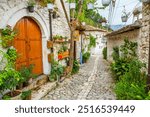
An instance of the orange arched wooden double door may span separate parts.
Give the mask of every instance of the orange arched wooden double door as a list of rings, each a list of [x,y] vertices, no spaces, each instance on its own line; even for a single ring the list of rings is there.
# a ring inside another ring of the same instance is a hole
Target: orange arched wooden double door
[[[33,64],[33,73],[42,74],[42,35],[38,24],[32,18],[24,17],[18,21],[15,30],[18,34],[14,47],[19,54],[16,68]]]

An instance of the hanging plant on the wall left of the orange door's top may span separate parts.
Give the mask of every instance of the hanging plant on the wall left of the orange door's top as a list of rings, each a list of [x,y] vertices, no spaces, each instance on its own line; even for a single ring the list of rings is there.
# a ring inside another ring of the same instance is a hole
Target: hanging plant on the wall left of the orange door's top
[[[0,37],[1,45],[4,48],[10,47],[17,33],[13,31],[10,26],[6,26],[5,29],[1,29],[0,33],[1,33]]]

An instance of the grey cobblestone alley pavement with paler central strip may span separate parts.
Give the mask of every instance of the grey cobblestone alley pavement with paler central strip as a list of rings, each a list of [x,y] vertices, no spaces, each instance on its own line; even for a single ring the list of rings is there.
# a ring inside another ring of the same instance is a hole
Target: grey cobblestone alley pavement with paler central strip
[[[78,74],[49,92],[43,100],[112,100],[116,99],[107,62],[92,56]]]

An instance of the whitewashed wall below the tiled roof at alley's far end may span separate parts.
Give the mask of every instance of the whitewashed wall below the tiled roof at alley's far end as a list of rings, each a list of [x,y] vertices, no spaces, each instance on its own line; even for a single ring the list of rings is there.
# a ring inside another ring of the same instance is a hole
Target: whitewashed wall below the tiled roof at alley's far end
[[[90,43],[88,36],[91,34],[92,36],[94,36],[96,39],[96,47],[95,48],[91,48],[91,54],[95,55],[95,54],[101,54],[102,53],[102,49],[103,47],[105,47],[105,44],[102,43],[102,39],[104,37],[104,35],[106,34],[106,32],[104,31],[85,31],[84,34],[82,34],[82,49],[84,49],[84,51],[88,51],[88,45]],[[80,35],[80,40],[77,42],[77,48],[76,48],[76,57],[78,60],[80,60],[80,56],[81,56],[81,35]]]

